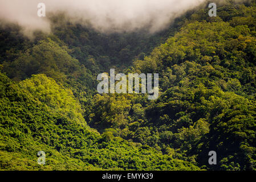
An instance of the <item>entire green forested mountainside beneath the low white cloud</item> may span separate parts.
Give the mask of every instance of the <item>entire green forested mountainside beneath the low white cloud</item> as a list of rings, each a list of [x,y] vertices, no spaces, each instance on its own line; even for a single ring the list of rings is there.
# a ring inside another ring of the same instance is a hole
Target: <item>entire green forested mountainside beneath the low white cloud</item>
[[[51,21],[33,40],[1,26],[0,169],[255,170],[256,1],[197,10],[155,35]],[[109,68],[159,73],[159,98],[97,94]]]

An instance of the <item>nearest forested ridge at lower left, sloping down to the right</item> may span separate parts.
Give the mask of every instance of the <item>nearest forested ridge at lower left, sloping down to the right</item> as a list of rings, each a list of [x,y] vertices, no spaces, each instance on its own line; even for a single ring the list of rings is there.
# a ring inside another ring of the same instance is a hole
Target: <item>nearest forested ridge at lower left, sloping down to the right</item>
[[[15,84],[1,73],[1,169],[199,169],[153,148],[100,135],[71,90],[45,75]],[[46,165],[37,164],[38,151]]]

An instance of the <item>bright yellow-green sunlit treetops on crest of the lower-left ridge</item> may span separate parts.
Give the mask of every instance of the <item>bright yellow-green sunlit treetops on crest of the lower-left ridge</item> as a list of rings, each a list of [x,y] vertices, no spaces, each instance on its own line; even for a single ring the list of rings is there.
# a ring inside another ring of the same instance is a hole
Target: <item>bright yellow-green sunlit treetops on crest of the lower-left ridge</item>
[[[54,113],[64,115],[71,122],[86,125],[80,104],[72,91],[59,86],[52,78],[45,75],[33,75],[31,78],[19,82],[19,85],[50,107]]]

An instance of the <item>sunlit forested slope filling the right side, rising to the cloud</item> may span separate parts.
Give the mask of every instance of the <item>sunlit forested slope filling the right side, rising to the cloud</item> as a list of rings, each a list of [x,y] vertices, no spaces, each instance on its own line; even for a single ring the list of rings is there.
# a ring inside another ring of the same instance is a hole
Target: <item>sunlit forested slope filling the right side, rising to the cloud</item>
[[[158,100],[95,96],[87,121],[200,166],[208,166],[214,150],[219,163],[213,169],[254,169],[255,3],[220,10],[216,18],[204,10],[193,14],[127,70],[160,73]]]

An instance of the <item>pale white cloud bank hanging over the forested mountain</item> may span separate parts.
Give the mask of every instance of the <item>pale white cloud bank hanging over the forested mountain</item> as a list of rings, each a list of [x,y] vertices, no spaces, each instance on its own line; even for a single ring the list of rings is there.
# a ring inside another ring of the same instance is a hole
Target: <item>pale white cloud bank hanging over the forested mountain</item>
[[[25,31],[50,31],[47,14],[64,11],[75,22],[90,20],[100,31],[161,30],[170,20],[205,0],[0,0],[0,19],[18,22]],[[46,5],[46,18],[37,16],[38,3]]]

